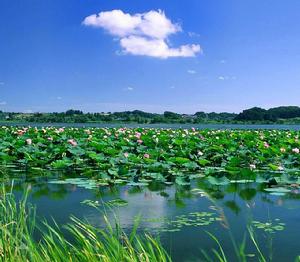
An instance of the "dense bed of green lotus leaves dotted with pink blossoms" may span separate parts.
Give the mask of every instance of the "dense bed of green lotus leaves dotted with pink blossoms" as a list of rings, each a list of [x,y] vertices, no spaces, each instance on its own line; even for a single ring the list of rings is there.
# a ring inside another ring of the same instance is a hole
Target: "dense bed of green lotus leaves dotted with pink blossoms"
[[[273,178],[285,187],[300,184],[299,135],[282,130],[2,127],[0,163],[77,170],[97,180],[88,187],[142,186],[151,180],[185,186],[204,175],[218,186]],[[269,177],[261,177],[261,171]]]

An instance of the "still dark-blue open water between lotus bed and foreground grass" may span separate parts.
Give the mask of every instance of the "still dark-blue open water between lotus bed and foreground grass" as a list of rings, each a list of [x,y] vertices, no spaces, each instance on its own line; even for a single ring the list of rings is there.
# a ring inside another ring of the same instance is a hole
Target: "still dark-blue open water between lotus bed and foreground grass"
[[[229,261],[236,261],[233,243],[239,245],[245,237],[249,261],[258,261],[257,256],[251,257],[255,247],[247,225],[252,225],[268,261],[295,261],[300,254],[297,187],[286,194],[272,195],[264,191],[263,184],[216,186],[200,179],[191,186],[151,183],[144,187],[88,188],[80,183],[59,184],[58,177],[15,175],[14,193],[20,197],[29,188],[29,201],[36,206],[39,218],[54,218],[66,224],[74,215],[104,227],[102,212],[106,212],[110,221],[117,216],[124,230],[130,232],[135,218],[140,216],[140,230],[159,236],[174,261],[203,261],[202,250],[211,254],[212,248],[217,249],[207,232],[217,237]],[[85,200],[98,201],[101,211],[83,204]],[[122,200],[122,205],[108,208],[103,204],[116,200]]]

